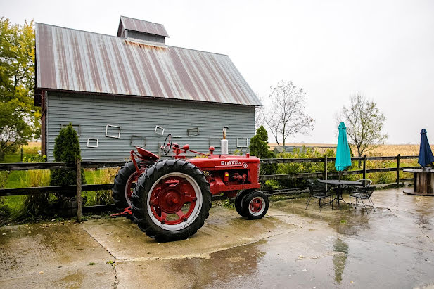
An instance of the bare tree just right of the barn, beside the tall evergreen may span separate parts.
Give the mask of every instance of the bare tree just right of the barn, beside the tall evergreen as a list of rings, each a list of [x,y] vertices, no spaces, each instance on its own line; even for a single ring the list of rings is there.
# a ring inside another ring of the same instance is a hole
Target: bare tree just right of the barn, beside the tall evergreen
[[[295,87],[292,81],[281,81],[271,89],[271,105],[264,121],[277,144],[285,146],[288,136],[307,134],[314,126],[314,119],[305,113],[306,93]]]

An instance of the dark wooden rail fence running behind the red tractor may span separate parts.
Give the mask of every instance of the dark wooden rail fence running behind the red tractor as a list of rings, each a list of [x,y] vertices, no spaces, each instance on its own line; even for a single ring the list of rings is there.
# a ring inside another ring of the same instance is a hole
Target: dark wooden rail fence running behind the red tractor
[[[410,179],[400,179],[399,172],[403,169],[417,168],[417,167],[400,167],[400,160],[403,159],[416,159],[419,158],[417,155],[411,156],[391,156],[391,157],[355,157],[352,158],[353,161],[362,162],[363,169],[354,171],[341,172],[342,175],[350,174],[362,174],[363,179],[366,178],[367,173],[371,172],[396,172],[396,184],[400,184],[400,181],[410,180]],[[329,176],[338,176],[338,172],[328,172],[327,164],[328,162],[334,162],[336,158],[273,158],[273,159],[262,159],[261,164],[285,164],[285,163],[302,163],[302,162],[324,162],[324,172],[315,173],[301,173],[301,174],[272,174],[272,175],[262,175],[261,181],[267,180],[282,180],[282,179],[310,179],[310,178],[324,178],[328,179]],[[366,161],[368,160],[396,160],[397,167],[388,167],[381,169],[366,169]],[[11,164],[0,164],[0,171],[23,171],[30,169],[76,169],[77,171],[77,184],[70,186],[42,186],[42,187],[31,187],[31,188],[4,188],[0,189],[0,197],[8,195],[34,195],[39,193],[65,193],[76,191],[77,195],[81,195],[82,191],[101,191],[110,190],[113,184],[82,184],[81,172],[82,168],[108,168],[108,167],[121,167],[125,162],[82,162],[77,160],[76,162],[29,162],[29,163],[11,163]],[[221,199],[221,197],[213,197],[214,199]],[[82,204],[81,198],[77,198],[78,210],[77,210],[77,221],[82,219]]]

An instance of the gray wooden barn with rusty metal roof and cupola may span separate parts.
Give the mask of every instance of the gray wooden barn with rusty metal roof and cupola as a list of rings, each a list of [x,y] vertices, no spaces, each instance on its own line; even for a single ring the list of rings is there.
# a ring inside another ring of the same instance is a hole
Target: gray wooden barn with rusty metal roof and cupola
[[[257,96],[229,56],[165,44],[158,23],[121,17],[117,36],[36,23],[35,105],[42,151],[70,122],[83,160],[125,160],[134,146],[160,153],[171,133],[193,150],[248,151]]]

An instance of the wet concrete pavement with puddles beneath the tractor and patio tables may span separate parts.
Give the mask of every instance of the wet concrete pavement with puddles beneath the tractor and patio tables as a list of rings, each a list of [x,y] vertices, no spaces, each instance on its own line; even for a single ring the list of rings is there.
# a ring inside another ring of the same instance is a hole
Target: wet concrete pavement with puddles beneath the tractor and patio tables
[[[4,288],[424,288],[434,198],[375,191],[376,212],[281,200],[259,221],[213,208],[189,240],[156,243],[127,219],[0,228]],[[107,264],[115,261],[114,264]],[[94,262],[94,265],[89,265]]]

